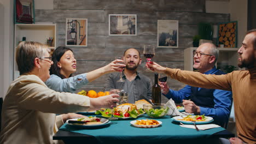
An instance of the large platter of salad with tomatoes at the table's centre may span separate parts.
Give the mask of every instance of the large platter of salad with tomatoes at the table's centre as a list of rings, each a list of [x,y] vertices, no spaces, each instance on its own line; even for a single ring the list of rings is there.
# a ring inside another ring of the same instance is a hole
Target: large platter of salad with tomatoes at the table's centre
[[[142,109],[133,109],[131,111],[123,112],[115,112],[115,109],[105,109],[98,110],[95,112],[96,115],[101,115],[102,117],[109,118],[113,115],[113,117],[117,117],[118,119],[129,119],[129,118],[137,118],[144,114]]]

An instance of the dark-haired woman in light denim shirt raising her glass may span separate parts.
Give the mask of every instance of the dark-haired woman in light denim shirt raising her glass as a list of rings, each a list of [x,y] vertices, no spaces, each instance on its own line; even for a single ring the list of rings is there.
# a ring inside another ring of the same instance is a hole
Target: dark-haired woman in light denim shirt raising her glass
[[[87,85],[89,82],[96,80],[98,77],[118,71],[125,67],[125,64],[120,59],[105,65],[104,67],[90,71],[88,73],[72,76],[77,71],[77,60],[74,53],[68,47],[59,46],[53,52],[54,64],[50,69],[50,78],[45,84],[57,92],[70,92],[74,93],[77,89]]]

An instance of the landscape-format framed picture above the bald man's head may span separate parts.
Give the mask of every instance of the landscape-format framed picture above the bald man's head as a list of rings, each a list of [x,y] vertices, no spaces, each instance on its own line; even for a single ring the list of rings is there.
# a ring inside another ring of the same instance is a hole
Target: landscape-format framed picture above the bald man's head
[[[137,35],[137,15],[109,15],[109,35]]]

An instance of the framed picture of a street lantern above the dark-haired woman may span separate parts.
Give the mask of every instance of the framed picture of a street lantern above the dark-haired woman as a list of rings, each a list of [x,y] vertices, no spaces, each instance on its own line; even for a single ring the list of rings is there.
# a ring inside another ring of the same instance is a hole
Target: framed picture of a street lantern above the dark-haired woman
[[[87,19],[66,19],[66,46],[87,46]]]

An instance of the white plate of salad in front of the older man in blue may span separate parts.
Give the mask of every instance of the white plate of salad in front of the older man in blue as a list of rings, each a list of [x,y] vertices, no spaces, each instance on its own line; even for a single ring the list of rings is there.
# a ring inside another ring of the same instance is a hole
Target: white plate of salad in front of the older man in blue
[[[195,121],[196,124],[206,124],[213,121],[212,117],[207,117],[205,115],[176,116],[171,119],[185,124],[194,124],[192,121]]]

